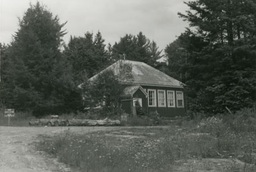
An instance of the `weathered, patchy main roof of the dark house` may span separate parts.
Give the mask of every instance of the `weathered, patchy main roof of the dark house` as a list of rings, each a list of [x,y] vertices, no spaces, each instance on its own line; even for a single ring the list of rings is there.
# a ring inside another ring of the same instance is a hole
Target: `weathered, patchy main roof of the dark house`
[[[144,62],[137,61],[127,61],[122,60],[122,62],[132,65],[132,76],[133,81],[120,81],[122,83],[132,84],[132,85],[152,85],[152,86],[165,86],[165,87],[183,87],[183,83],[179,82],[175,78],[166,75],[165,73],[145,64]],[[104,69],[100,73],[113,69],[114,72],[118,71],[118,64],[120,61],[115,62],[108,68]],[[97,75],[94,75],[90,80],[97,78]]]

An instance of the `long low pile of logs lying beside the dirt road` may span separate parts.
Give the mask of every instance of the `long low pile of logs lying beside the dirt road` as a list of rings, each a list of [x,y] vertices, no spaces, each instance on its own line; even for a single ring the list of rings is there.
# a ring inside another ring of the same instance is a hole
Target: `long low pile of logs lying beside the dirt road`
[[[120,120],[89,120],[89,119],[34,119],[29,121],[30,126],[104,126],[104,125],[120,125]]]

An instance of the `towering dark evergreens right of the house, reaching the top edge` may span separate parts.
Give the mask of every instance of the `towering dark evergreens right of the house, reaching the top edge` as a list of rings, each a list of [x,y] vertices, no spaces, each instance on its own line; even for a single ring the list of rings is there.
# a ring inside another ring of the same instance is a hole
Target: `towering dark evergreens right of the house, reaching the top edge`
[[[252,106],[256,99],[256,2],[197,0],[186,4],[190,10],[179,15],[190,27],[186,31],[189,44],[184,47],[189,54],[190,107],[216,113],[225,106],[234,111]]]

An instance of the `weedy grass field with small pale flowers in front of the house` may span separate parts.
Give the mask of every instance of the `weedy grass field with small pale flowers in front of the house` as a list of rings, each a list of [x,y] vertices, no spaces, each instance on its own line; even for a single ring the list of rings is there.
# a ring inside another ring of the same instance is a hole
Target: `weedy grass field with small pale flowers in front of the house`
[[[167,128],[66,132],[45,136],[38,149],[78,171],[256,171],[255,124],[239,132],[232,124],[212,117]]]

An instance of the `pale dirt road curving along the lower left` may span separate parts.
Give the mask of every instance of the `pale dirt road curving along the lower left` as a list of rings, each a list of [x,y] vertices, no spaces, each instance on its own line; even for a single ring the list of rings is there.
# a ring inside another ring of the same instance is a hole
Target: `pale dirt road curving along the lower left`
[[[35,150],[33,142],[38,134],[54,135],[67,129],[71,132],[88,133],[116,127],[2,127],[0,126],[1,172],[50,172],[61,171],[56,159]],[[63,168],[62,168],[63,169]]]

